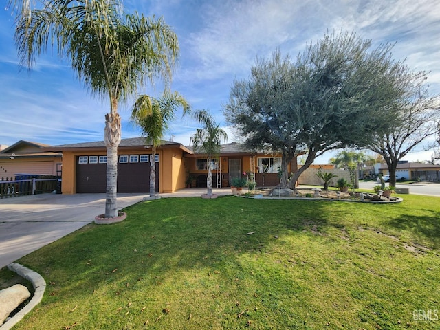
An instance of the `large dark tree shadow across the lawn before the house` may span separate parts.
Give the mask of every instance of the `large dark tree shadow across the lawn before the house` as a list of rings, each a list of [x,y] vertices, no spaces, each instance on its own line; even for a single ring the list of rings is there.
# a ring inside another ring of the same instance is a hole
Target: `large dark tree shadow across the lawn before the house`
[[[283,244],[286,235],[316,234],[327,225],[324,206],[236,197],[159,199],[126,208],[121,223],[87,225],[23,263],[73,292],[140,278],[161,283],[177,271],[214,270],[239,263],[241,254],[272,253],[268,247]]]

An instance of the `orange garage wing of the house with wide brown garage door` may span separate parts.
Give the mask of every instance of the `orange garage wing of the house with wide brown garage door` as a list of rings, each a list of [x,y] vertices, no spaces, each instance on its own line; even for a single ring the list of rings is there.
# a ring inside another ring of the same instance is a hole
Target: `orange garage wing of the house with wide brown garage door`
[[[107,149],[104,141],[50,146],[63,153],[62,193],[105,192]],[[148,192],[151,146],[144,137],[122,139],[118,146],[118,192]],[[192,151],[163,141],[156,150],[156,192],[174,192],[185,186],[184,157]]]

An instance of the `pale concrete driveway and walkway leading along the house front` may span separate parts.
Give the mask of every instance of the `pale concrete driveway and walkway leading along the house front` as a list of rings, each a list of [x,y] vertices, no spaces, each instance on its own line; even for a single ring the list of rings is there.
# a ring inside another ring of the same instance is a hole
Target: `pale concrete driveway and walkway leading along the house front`
[[[214,189],[217,195],[228,189]],[[197,197],[206,188],[183,189],[161,197]],[[148,194],[118,194],[118,210]],[[0,268],[82,228],[104,213],[105,194],[43,194],[0,199]]]

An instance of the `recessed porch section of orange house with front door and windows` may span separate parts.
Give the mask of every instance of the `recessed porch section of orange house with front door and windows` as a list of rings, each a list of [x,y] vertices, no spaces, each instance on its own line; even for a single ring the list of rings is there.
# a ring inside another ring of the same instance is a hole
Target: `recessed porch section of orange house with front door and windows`
[[[192,150],[192,147],[188,146],[188,149]],[[212,160],[212,187],[230,186],[231,180],[235,177],[250,178],[250,173],[255,175],[256,186],[276,186],[280,183],[279,167],[281,167],[279,153],[248,151],[243,144],[237,142],[222,144],[219,157]],[[297,159],[294,157],[288,171],[290,173],[296,170],[298,170]],[[186,155],[186,172],[193,178],[192,181],[195,181],[196,186],[206,187],[207,155],[201,153]]]

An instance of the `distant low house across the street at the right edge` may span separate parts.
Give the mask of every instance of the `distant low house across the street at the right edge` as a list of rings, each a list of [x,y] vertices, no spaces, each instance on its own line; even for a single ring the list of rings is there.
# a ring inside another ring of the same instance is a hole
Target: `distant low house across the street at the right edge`
[[[389,174],[386,164],[382,164],[380,173]],[[397,164],[396,178],[414,181],[440,181],[440,165],[401,162]]]

